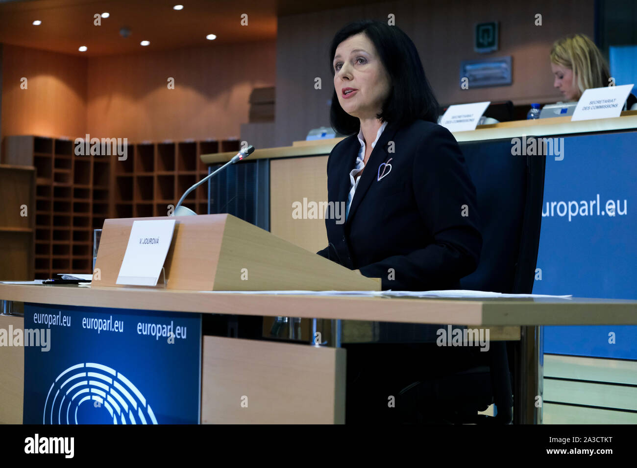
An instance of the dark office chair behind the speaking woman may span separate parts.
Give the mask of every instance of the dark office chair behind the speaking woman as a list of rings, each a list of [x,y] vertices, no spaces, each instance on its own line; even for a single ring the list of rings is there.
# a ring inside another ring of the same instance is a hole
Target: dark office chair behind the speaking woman
[[[476,187],[483,237],[480,264],[462,278],[463,289],[513,294],[533,291],[546,159],[513,156],[511,148],[510,140],[461,144]],[[396,405],[409,412],[403,415],[403,422],[431,418],[431,422],[511,423],[507,343],[492,341],[490,350],[482,354],[488,355],[481,356],[483,365],[404,387]],[[477,414],[493,402],[495,417]],[[419,408],[417,413],[413,408]]]

